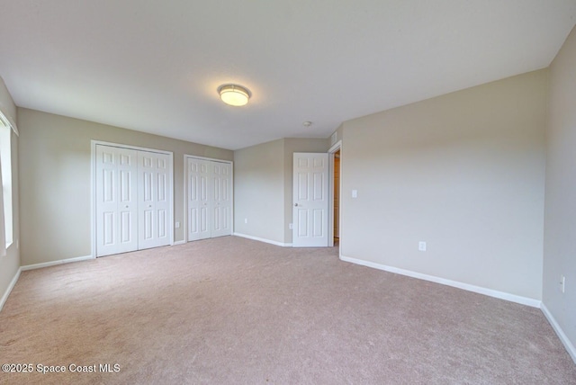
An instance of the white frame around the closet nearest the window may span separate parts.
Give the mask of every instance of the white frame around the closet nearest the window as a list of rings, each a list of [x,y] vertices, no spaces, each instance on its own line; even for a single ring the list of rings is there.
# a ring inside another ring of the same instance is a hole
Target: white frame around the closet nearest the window
[[[172,175],[171,193],[169,194],[170,202],[170,220],[168,222],[170,229],[170,246],[174,245],[174,152],[165,151],[157,148],[144,148],[139,146],[130,146],[121,143],[107,142],[103,140],[90,140],[90,238],[92,246],[92,257],[96,258],[96,146],[109,146],[115,148],[135,149],[138,151],[154,152],[164,154],[169,157],[168,173]]]

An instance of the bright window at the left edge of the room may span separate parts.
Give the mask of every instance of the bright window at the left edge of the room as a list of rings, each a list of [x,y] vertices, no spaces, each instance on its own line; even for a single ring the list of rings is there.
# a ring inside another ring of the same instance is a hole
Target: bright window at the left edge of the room
[[[4,239],[4,245],[0,245],[0,255],[5,254],[5,249],[12,245],[14,240],[12,228],[12,148],[10,140],[12,130],[12,124],[0,111],[0,175],[2,175],[2,192],[0,192],[0,197],[2,198],[0,203],[2,207],[0,207],[0,220],[4,217],[4,223],[1,223],[4,234],[0,234],[0,240]]]

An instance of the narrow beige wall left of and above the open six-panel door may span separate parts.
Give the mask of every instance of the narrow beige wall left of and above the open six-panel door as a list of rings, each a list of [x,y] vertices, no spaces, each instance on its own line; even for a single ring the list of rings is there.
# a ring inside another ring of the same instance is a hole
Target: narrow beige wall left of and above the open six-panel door
[[[284,243],[292,243],[293,155],[295,152],[327,152],[326,139],[284,139]]]

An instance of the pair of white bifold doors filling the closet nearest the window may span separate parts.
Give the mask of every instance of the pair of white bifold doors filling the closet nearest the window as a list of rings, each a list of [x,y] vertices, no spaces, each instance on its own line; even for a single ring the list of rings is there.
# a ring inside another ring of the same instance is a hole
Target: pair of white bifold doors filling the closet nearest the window
[[[172,244],[172,155],[96,144],[96,256]]]

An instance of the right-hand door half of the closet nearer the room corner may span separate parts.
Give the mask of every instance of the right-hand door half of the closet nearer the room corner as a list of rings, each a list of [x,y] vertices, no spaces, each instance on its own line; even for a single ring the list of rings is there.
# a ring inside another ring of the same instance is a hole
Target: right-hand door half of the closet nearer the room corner
[[[232,166],[229,163],[211,162],[212,226],[211,237],[232,234]]]

